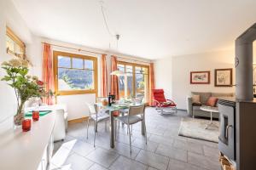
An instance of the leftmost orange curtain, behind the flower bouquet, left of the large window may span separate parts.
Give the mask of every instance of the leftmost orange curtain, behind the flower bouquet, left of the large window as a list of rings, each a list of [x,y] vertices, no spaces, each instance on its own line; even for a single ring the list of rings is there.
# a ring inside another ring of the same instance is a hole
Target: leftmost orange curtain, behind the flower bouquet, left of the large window
[[[45,83],[45,91],[49,93],[49,90],[54,92],[54,72],[53,72],[53,59],[51,54],[50,45],[44,43],[44,61],[43,61],[43,82]],[[54,105],[54,99],[52,97],[46,97],[43,102],[47,105]]]

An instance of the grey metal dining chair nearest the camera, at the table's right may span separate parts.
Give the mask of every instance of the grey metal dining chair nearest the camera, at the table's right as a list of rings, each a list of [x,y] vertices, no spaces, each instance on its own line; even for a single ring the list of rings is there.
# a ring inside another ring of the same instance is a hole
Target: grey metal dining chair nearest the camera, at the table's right
[[[128,127],[129,132],[129,139],[130,139],[130,152],[131,152],[131,129],[130,126],[137,123],[142,122],[144,123],[144,131],[146,137],[146,144],[147,144],[147,131],[146,131],[146,123],[145,123],[145,105],[131,105],[129,107],[128,114],[126,116],[119,116],[116,117],[119,122],[123,122]]]

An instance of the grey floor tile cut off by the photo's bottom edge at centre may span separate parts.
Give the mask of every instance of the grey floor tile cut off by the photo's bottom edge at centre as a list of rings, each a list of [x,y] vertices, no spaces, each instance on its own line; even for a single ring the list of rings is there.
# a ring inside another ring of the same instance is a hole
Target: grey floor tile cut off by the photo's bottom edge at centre
[[[113,162],[110,167],[111,170],[146,170],[147,167],[140,162],[133,161],[124,156],[119,156],[119,158]]]

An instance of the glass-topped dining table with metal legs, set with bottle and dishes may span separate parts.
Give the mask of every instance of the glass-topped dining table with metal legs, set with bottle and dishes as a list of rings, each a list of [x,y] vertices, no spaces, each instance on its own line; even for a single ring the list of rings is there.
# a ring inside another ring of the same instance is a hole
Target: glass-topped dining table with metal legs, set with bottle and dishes
[[[144,105],[143,103],[119,103],[116,102],[112,105],[102,105],[102,103],[96,103],[96,105],[101,108],[101,110],[108,111],[109,113],[109,122],[110,122],[110,147],[114,148],[114,136],[115,136],[115,130],[114,130],[114,112],[119,111],[121,109],[129,109],[130,106],[140,106]],[[142,122],[142,135],[145,135],[145,122]]]

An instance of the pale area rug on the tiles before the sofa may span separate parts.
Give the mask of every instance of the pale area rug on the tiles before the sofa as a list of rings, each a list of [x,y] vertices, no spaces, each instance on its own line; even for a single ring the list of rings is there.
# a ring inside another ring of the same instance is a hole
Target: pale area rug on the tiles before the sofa
[[[211,126],[205,129],[209,122],[210,120],[205,119],[193,119],[189,117],[183,118],[179,127],[178,135],[218,143],[219,122],[213,121],[216,127]]]

